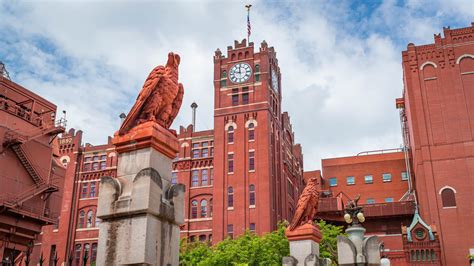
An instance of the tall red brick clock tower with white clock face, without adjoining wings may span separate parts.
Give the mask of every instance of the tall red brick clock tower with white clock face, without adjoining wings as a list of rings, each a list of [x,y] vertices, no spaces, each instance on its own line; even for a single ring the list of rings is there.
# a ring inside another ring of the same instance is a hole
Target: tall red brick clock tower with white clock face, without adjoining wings
[[[214,55],[214,243],[289,219],[281,158],[281,82],[273,47],[244,39]]]

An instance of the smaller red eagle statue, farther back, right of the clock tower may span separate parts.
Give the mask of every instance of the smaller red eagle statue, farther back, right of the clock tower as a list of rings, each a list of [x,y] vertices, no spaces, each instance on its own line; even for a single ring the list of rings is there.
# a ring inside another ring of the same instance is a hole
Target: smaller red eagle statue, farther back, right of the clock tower
[[[306,187],[301,193],[300,198],[298,199],[295,215],[293,216],[293,220],[288,227],[290,231],[305,223],[313,222],[313,218],[318,211],[318,201],[318,178],[311,177],[308,180],[308,184],[306,184]]]

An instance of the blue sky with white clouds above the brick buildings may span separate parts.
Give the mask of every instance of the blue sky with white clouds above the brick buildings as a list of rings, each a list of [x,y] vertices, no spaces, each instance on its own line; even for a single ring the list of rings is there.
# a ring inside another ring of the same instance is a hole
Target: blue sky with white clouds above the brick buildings
[[[213,61],[246,37],[274,46],[283,110],[303,145],[305,170],[321,158],[401,145],[395,98],[401,51],[433,42],[443,26],[474,21],[471,0],[408,1],[0,1],[0,61],[13,81],[67,110],[85,141],[106,142],[143,81],[169,51],[185,87],[173,128],[213,127]]]

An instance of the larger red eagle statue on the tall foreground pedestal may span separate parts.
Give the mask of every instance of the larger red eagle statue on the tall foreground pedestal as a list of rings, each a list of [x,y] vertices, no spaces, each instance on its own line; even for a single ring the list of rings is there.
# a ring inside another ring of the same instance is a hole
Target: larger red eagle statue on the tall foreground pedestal
[[[166,66],[157,66],[151,71],[137,101],[122,123],[119,135],[147,121],[155,121],[164,128],[171,126],[184,94],[183,84],[178,83],[179,62],[179,55],[169,53]]]

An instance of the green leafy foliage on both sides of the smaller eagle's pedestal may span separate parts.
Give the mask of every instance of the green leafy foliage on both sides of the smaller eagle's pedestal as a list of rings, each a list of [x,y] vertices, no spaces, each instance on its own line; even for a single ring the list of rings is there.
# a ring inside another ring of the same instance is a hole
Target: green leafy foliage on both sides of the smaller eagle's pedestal
[[[324,221],[317,223],[323,234],[320,243],[321,257],[337,261],[337,235],[342,234],[342,226],[333,226]],[[257,236],[246,232],[236,239],[225,239],[213,247],[208,243],[180,243],[181,265],[208,266],[250,266],[281,265],[282,258],[290,255],[288,239],[285,236],[287,223],[281,223],[274,232]]]

